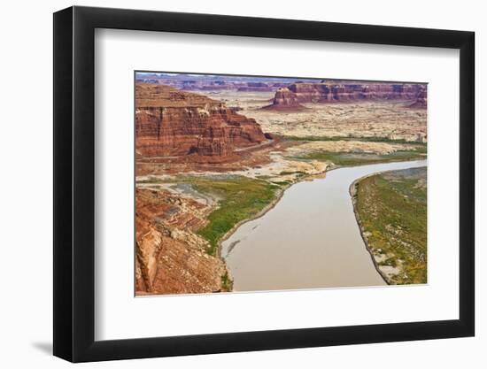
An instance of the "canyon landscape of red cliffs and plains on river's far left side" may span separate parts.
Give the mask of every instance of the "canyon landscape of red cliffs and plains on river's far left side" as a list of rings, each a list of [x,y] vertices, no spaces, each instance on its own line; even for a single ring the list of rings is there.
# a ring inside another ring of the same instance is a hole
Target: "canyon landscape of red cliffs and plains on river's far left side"
[[[418,84],[137,74],[135,295],[233,290],[220,242],[329,169],[424,158],[426,105]]]

